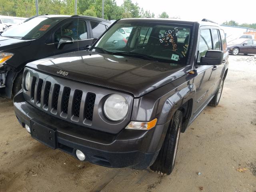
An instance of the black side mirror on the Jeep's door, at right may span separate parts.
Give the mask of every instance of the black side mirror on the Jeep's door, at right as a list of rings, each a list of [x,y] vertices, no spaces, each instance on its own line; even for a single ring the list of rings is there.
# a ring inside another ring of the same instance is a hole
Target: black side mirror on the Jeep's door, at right
[[[204,57],[201,57],[199,65],[220,65],[223,61],[223,51],[208,50]]]

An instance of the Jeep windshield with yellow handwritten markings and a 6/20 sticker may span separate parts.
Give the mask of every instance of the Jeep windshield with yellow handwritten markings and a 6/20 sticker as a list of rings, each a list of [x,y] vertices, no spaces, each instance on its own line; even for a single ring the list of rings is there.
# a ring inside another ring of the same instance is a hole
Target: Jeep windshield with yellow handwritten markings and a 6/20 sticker
[[[122,29],[130,29],[127,36]],[[96,43],[96,51],[186,64],[191,26],[153,22],[118,22]]]

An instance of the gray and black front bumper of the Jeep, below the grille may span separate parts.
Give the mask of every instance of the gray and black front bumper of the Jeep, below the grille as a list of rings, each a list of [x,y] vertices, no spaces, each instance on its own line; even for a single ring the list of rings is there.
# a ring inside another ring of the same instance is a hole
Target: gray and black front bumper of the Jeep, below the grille
[[[26,102],[23,93],[14,97],[14,111],[20,124],[38,124],[56,133],[58,148],[76,157],[82,151],[86,161],[106,167],[133,166],[145,169],[153,164],[164,141],[169,122],[151,130],[121,130],[110,134],[55,118]],[[32,131],[32,130],[31,130]],[[45,135],[48,138],[48,135]],[[39,140],[42,142],[42,140]],[[47,143],[43,142],[47,145]]]

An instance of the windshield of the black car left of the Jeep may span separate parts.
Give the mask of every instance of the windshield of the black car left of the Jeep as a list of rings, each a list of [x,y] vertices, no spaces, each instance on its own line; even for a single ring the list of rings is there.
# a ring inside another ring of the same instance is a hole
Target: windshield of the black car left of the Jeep
[[[4,31],[1,35],[3,37],[22,38],[24,40],[36,39],[45,34],[58,21],[58,18],[38,16],[27,22],[12,26],[12,28]]]

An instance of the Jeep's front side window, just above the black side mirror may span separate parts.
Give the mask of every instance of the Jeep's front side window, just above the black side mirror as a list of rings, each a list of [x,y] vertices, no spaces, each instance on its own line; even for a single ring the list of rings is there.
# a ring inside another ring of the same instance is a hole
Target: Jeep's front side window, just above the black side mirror
[[[199,40],[199,54],[200,57],[205,56],[208,50],[212,49],[212,38],[210,29],[204,29],[200,32],[200,40]],[[198,59],[200,60],[200,57]]]

